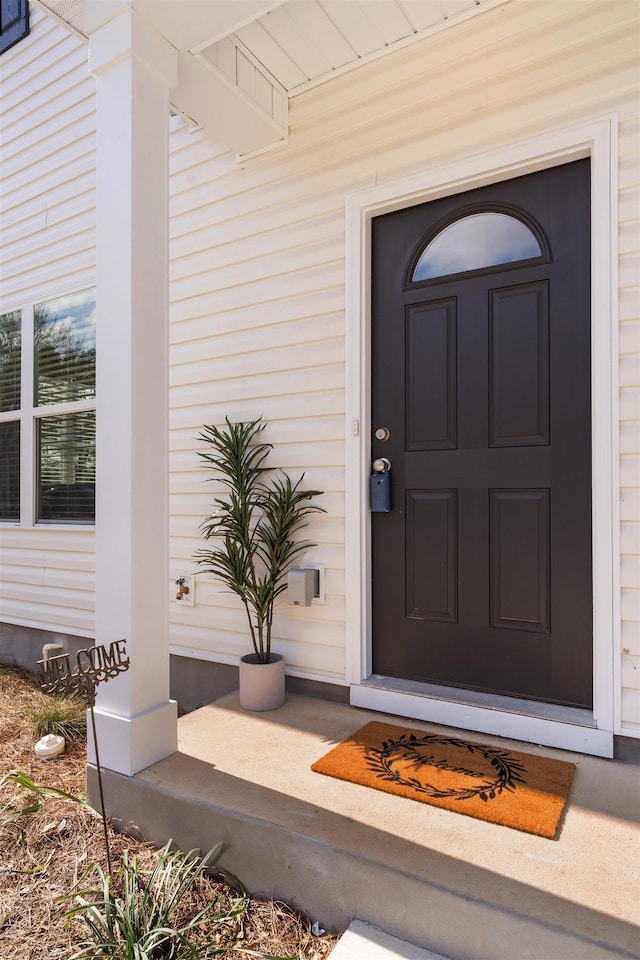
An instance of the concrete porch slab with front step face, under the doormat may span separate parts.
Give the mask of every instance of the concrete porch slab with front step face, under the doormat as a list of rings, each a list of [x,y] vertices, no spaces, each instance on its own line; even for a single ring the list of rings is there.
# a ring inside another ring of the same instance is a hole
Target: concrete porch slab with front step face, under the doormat
[[[250,714],[232,694],[181,718],[177,753],[134,777],[105,772],[106,805],[158,844],[223,840],[223,867],[325,928],[357,917],[452,960],[640,956],[637,767],[470,734],[577,764],[545,840],[310,770],[373,719],[390,718],[293,695]]]

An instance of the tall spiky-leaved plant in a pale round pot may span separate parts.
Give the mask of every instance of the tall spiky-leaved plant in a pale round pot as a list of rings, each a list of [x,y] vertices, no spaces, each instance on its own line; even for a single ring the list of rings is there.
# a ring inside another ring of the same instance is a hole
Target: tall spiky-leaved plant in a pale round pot
[[[260,440],[262,417],[225,421],[222,429],[203,427],[198,438],[207,445],[198,453],[213,469],[210,479],[224,484],[226,494],[214,498],[200,526],[206,546],[195,560],[237,594],[247,614],[253,652],[240,660],[241,706],[271,710],[284,702],[284,658],[271,650],[274,605],[293,562],[314,546],[296,535],[311,513],[322,511],[310,503],[322,491],[303,490],[304,474],[292,483],[265,466],[272,445]]]

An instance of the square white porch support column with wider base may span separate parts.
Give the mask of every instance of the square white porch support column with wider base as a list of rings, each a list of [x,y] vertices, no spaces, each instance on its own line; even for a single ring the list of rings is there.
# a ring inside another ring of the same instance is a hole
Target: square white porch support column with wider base
[[[131,660],[99,688],[96,722],[102,765],[132,776],[177,749],[167,593],[169,89],[177,55],[130,4],[86,9],[97,89],[96,643],[124,638]]]

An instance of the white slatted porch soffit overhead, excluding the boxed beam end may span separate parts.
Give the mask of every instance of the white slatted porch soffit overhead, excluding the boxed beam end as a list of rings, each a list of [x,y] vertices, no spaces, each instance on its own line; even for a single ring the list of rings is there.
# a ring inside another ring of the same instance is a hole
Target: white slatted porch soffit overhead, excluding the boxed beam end
[[[225,37],[289,97],[508,0],[134,0],[178,50],[219,59]],[[36,0],[78,33],[100,0]],[[227,41],[228,42],[228,41]]]

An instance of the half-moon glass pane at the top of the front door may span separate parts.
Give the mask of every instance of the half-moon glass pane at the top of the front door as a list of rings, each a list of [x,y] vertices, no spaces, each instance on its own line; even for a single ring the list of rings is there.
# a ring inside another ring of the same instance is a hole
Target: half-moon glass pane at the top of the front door
[[[506,213],[474,213],[449,224],[427,243],[411,282],[540,256],[540,244],[522,220]]]

